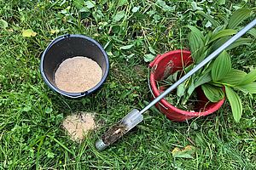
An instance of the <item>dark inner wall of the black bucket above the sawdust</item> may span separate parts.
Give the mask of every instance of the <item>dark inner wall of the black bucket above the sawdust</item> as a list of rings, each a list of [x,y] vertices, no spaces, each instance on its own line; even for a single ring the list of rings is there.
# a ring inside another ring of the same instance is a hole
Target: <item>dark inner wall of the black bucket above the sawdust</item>
[[[95,42],[84,37],[64,36],[52,42],[44,54],[44,75],[51,84],[56,86],[54,75],[61,62],[75,56],[84,56],[95,60],[102,68],[102,77],[108,73],[104,52]]]

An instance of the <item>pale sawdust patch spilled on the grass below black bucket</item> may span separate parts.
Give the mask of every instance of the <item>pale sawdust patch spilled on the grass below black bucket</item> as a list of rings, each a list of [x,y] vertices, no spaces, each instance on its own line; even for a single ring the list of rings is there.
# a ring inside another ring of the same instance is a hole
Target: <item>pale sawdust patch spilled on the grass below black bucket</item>
[[[73,141],[81,142],[86,134],[96,127],[93,115],[89,112],[79,112],[67,116],[62,122],[62,126],[67,130]]]

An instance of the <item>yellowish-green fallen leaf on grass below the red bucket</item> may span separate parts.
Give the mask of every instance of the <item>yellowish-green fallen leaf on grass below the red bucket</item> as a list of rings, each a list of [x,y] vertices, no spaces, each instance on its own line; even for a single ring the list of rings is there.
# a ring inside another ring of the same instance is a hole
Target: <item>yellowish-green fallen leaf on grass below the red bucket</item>
[[[183,150],[174,148],[174,150],[172,150],[172,156],[180,158],[193,158],[192,155],[195,154],[195,150],[195,147],[192,145],[187,145]]]

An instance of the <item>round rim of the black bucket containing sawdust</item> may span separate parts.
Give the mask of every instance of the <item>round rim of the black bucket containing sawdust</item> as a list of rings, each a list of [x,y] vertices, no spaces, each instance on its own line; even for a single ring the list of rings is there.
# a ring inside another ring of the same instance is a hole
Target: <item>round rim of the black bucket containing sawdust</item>
[[[67,37],[68,38],[70,38],[70,37],[84,38],[86,40],[89,40],[90,42],[95,43],[96,46],[101,49],[103,57],[106,60],[106,71],[105,71],[105,73],[104,73],[104,75],[102,77],[102,80],[100,82],[98,82],[95,87],[90,88],[89,90],[81,92],[81,93],[68,93],[68,92],[65,92],[65,91],[55,87],[53,84],[51,84],[49,82],[48,78],[45,76],[45,73],[44,73],[44,62],[43,61],[44,61],[45,54],[48,52],[49,48],[51,48],[51,46],[53,46],[56,42],[60,42],[61,40],[65,39]],[[42,77],[44,79],[44,82],[47,84],[47,86],[49,88],[51,88],[53,91],[55,91],[55,92],[57,92],[57,93],[59,93],[61,95],[64,95],[66,97],[73,98],[73,99],[84,97],[84,96],[86,96],[88,94],[92,94],[93,92],[95,92],[98,88],[100,88],[102,86],[103,82],[106,81],[106,79],[108,77],[108,71],[109,71],[108,54],[105,52],[104,48],[102,48],[102,45],[99,42],[96,42],[96,40],[94,40],[93,38],[87,37],[87,36],[84,36],[84,35],[81,35],[81,34],[66,34],[66,35],[61,35],[59,37],[55,37],[55,39],[52,40],[49,43],[47,48],[44,49],[44,52],[43,52],[43,54],[41,56],[41,60],[40,60],[40,72],[41,72],[41,75],[42,75]]]

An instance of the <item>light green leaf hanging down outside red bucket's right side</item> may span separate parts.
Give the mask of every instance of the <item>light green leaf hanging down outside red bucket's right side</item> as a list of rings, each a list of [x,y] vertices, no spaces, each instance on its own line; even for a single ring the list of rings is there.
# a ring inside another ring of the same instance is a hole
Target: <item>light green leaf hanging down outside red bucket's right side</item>
[[[236,122],[241,119],[242,105],[239,96],[232,90],[232,88],[225,86],[225,92],[230,102],[231,110]]]

